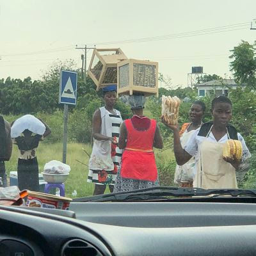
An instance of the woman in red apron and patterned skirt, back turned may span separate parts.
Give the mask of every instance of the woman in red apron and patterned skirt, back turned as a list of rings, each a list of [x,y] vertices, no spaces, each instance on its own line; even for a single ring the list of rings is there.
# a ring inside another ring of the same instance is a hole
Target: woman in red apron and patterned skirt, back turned
[[[133,116],[120,128],[118,145],[124,148],[114,192],[159,186],[153,147],[163,148],[156,120],[143,116],[143,96],[129,98]]]

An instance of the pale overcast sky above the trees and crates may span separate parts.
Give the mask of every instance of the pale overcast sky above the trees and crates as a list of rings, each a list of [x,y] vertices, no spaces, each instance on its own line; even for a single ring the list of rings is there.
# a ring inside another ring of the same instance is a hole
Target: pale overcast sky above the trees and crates
[[[0,79],[40,79],[57,59],[81,67],[76,45],[94,44],[157,61],[174,87],[194,66],[229,78],[230,50],[256,40],[255,10],[255,0],[0,0]]]

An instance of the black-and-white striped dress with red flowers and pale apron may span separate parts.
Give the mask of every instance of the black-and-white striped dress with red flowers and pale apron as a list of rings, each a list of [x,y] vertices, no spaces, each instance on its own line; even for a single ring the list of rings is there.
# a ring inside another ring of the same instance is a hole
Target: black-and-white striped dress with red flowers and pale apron
[[[122,116],[120,115],[120,112],[116,109],[114,109],[114,111],[116,112],[116,115],[113,115],[105,108],[100,108],[102,116],[101,134],[116,137],[116,140],[118,142],[120,125],[122,124]],[[104,155],[101,154],[103,147],[106,148],[106,152],[104,152]],[[108,156],[106,156],[106,154]],[[116,147],[116,145],[114,145],[113,143],[111,143],[111,141],[94,140],[93,152],[89,161],[89,173],[87,182],[114,186],[121,158],[122,150]],[[109,159],[111,163],[108,162]]]

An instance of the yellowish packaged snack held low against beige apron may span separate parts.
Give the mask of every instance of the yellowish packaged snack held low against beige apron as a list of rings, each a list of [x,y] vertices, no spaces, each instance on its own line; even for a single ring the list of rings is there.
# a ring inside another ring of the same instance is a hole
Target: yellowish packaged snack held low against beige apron
[[[240,161],[243,154],[242,143],[239,140],[227,140],[223,147],[223,157]]]

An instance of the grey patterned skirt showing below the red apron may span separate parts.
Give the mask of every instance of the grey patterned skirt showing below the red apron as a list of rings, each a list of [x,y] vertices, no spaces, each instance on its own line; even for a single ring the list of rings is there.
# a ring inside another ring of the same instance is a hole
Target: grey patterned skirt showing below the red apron
[[[158,186],[160,186],[158,179],[155,182],[150,182],[147,180],[125,179],[121,177],[120,170],[118,170],[118,173],[116,175],[114,192],[132,191],[136,189],[152,188],[152,187],[158,187]]]

